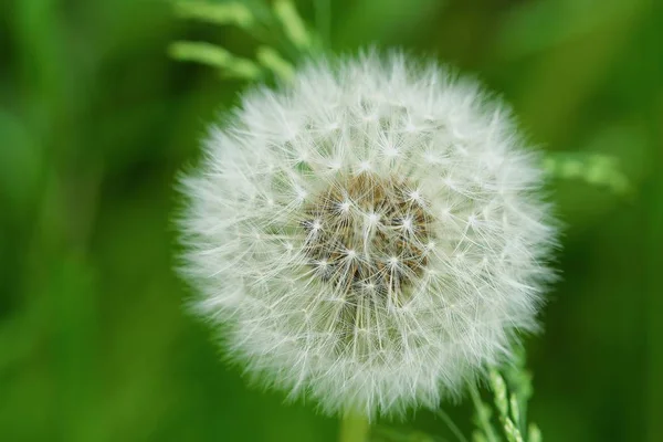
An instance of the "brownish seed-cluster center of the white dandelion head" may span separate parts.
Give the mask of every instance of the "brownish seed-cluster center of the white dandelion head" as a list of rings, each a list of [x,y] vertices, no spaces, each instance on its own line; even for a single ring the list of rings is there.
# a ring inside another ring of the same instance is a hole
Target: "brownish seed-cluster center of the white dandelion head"
[[[413,187],[369,172],[338,177],[305,208],[304,252],[319,280],[350,297],[403,302],[423,273],[430,220]],[[346,296],[347,298],[347,296]]]

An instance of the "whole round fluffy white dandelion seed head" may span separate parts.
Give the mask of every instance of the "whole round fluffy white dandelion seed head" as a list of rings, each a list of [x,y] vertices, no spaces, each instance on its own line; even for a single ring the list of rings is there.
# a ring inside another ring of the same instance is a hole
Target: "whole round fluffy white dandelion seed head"
[[[312,63],[245,95],[182,181],[193,307],[328,413],[436,408],[536,327],[556,235],[537,161],[434,63]]]

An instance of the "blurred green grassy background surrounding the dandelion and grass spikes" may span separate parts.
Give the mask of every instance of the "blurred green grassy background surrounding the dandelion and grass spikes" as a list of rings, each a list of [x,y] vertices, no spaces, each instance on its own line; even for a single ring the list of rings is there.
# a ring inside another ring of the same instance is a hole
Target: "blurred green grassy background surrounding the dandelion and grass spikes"
[[[335,50],[451,62],[499,91],[535,144],[613,155],[629,177],[625,196],[551,187],[564,280],[526,341],[547,441],[663,440],[659,4],[333,2]],[[256,46],[166,1],[0,2],[0,441],[336,439],[313,404],[248,387],[182,314],[175,176],[244,83],[169,60],[177,39]],[[448,411],[470,431],[466,403]],[[452,440],[429,412],[406,427]]]

